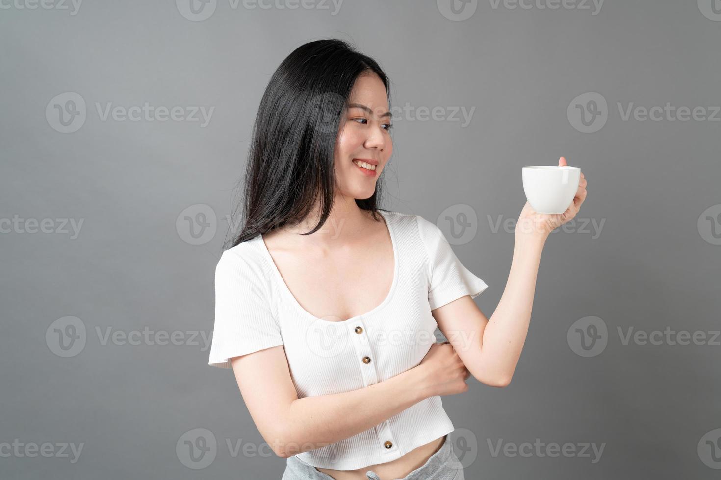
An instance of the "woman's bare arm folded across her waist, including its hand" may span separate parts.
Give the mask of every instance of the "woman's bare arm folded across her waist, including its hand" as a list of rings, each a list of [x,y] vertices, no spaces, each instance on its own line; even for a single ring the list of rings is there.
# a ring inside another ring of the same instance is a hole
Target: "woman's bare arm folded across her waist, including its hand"
[[[282,458],[350,438],[428,397],[466,391],[469,377],[453,347],[438,343],[418,366],[391,379],[302,399],[283,345],[234,357],[231,364],[255,425]]]

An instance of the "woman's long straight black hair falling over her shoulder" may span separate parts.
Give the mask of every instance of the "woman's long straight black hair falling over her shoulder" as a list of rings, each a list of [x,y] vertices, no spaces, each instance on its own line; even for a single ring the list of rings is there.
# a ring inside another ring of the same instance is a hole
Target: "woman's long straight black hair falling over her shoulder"
[[[319,223],[302,235],[323,226],[333,204],[340,119],[355,80],[368,73],[381,78],[390,105],[389,81],[379,64],[344,40],[305,43],[280,63],[253,124],[239,207],[243,227],[231,239],[231,247],[274,228],[298,225],[317,201]],[[378,219],[380,196],[376,182],[373,195],[355,203]]]

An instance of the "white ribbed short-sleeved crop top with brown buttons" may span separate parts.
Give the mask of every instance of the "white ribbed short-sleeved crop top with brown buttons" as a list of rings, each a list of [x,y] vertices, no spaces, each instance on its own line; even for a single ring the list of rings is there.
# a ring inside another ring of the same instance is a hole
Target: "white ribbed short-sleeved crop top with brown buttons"
[[[475,297],[487,285],[461,264],[434,223],[415,214],[379,212],[393,241],[393,284],[381,304],[342,322],[319,319],[301,307],[261,235],[224,251],[216,267],[208,364],[231,368],[230,358],[284,345],[298,398],[362,389],[417,366],[436,342],[438,325],[430,311],[464,295]],[[453,430],[435,396],[296,457],[311,466],[354,470],[393,461]]]

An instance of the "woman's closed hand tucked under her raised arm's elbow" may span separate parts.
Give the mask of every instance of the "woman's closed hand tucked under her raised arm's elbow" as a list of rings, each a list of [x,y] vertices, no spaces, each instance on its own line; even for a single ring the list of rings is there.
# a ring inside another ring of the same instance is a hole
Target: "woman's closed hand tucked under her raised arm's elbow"
[[[449,342],[430,345],[430,350],[418,367],[424,372],[424,384],[429,397],[468,391],[466,379],[471,373]]]

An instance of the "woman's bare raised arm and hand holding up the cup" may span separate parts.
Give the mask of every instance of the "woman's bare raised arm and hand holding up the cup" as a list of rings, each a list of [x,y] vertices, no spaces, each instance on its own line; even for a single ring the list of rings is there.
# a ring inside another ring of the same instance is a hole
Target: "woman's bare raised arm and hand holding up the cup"
[[[563,157],[559,160],[562,165],[566,165]],[[478,381],[498,387],[510,383],[531,321],[541,252],[552,230],[578,213],[585,201],[586,185],[581,173],[576,196],[562,214],[541,214],[526,202],[516,225],[508,281],[490,320],[469,295],[431,312],[438,328]]]

